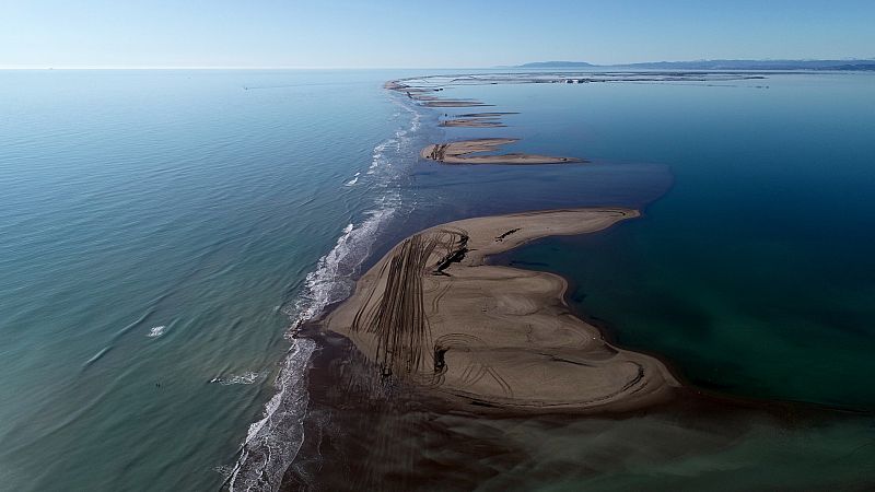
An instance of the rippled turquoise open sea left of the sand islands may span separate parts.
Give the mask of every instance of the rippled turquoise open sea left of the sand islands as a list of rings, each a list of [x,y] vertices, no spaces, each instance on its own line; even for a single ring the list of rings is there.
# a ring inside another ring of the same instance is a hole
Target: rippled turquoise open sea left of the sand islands
[[[390,75],[0,72],[0,489],[222,483],[401,213]]]

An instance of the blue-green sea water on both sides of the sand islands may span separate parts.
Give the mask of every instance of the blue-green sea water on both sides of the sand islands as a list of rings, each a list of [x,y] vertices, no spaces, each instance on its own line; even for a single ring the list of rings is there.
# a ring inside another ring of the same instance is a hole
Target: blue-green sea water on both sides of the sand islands
[[[875,77],[453,87],[521,114],[438,129],[470,109],[382,89],[421,74],[0,72],[0,489],[215,490],[253,470],[276,483],[317,349],[290,327],[423,226],[591,204],[645,216],[500,260],[565,276],[575,308],[701,389],[860,417],[757,422],[718,450],[711,427],[670,418],[584,419],[533,430],[527,466],[621,466],[537,484],[875,480]],[[489,136],[592,163],[417,159]],[[618,444],[635,430],[709,450]]]

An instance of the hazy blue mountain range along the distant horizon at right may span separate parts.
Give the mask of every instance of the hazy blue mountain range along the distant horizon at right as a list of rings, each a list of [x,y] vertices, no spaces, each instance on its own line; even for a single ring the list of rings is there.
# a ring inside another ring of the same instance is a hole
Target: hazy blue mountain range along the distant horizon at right
[[[631,68],[658,70],[875,70],[875,60],[697,60],[593,65],[585,61],[536,61],[512,68]]]

